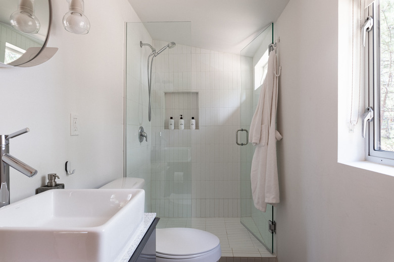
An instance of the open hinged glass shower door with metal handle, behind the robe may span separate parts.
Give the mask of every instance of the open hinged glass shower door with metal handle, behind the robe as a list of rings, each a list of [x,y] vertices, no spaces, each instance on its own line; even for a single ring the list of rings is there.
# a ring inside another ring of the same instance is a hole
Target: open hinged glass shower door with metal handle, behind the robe
[[[267,62],[268,45],[273,43],[273,24],[268,26],[259,36],[242,49],[241,55],[241,129],[250,128],[252,116],[256,110],[261,84],[264,81]],[[237,134],[239,144],[247,141],[246,133]],[[267,206],[265,213],[256,209],[253,204],[251,189],[251,164],[255,147],[251,143],[241,146],[240,154],[240,193],[241,223],[259,239],[271,252],[274,251],[273,233],[270,221],[274,221],[274,208]]]

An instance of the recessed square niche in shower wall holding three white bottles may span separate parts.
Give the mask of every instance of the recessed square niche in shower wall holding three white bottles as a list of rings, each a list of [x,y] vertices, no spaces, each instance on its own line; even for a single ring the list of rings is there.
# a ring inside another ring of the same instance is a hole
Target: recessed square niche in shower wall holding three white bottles
[[[174,119],[175,129],[178,129],[180,115],[185,121],[185,129],[190,129],[191,117],[194,117],[195,129],[199,129],[199,92],[166,91],[164,92],[164,109],[164,129],[169,129],[168,120],[171,116]]]

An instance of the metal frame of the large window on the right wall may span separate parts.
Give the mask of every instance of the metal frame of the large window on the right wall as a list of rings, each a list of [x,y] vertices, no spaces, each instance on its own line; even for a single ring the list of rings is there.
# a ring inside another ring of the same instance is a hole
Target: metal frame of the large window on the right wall
[[[367,88],[367,106],[371,106],[374,110],[373,119],[368,123],[366,138],[366,160],[370,162],[394,166],[394,152],[378,150],[379,129],[379,1],[374,1],[365,11],[365,17],[372,16],[374,23],[372,30],[366,35],[368,42],[365,47],[365,72],[366,72],[366,88]]]

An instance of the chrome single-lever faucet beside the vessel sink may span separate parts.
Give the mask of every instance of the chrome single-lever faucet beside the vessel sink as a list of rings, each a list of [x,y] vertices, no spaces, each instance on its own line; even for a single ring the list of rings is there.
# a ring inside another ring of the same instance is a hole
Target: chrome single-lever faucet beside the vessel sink
[[[37,170],[9,154],[9,140],[29,131],[29,128],[25,128],[11,135],[0,135],[0,208],[10,205],[10,166],[28,177],[37,174]]]

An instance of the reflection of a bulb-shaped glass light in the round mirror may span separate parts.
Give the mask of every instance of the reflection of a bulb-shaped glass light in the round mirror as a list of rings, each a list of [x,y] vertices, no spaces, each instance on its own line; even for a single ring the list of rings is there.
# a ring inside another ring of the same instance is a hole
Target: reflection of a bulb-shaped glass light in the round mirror
[[[23,33],[36,34],[40,30],[40,22],[34,15],[34,0],[19,0],[18,10],[11,14],[10,23]]]

